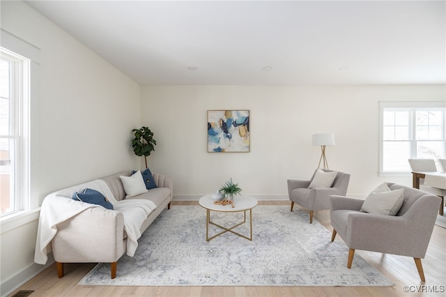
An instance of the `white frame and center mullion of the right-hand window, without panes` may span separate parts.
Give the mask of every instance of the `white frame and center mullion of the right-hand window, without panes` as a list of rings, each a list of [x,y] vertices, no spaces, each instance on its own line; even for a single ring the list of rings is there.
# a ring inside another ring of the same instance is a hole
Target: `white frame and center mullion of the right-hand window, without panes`
[[[387,110],[386,110],[387,109]],[[446,158],[446,102],[442,101],[425,101],[425,102],[379,102],[379,153],[378,153],[378,162],[379,162],[379,174],[378,176],[411,176],[410,170],[408,171],[384,171],[384,142],[383,139],[383,128],[384,128],[384,112],[388,111],[388,109],[408,111],[409,112],[409,123],[408,123],[408,140],[406,142],[410,142],[410,157],[409,158],[417,158],[417,142],[420,141],[440,141],[443,142],[443,158]],[[417,111],[429,110],[429,109],[442,109],[443,112],[443,139],[439,140],[420,140],[416,138],[416,119],[415,113]]]

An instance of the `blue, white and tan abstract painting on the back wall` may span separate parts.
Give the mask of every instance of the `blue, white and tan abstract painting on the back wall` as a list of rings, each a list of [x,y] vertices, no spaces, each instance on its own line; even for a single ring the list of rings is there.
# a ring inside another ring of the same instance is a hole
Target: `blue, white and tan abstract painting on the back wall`
[[[249,152],[249,110],[208,110],[208,153]]]

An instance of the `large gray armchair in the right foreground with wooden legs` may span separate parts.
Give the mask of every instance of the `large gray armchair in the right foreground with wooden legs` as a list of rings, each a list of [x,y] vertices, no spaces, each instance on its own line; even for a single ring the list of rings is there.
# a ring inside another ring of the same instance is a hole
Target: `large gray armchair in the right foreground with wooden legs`
[[[395,216],[361,212],[363,199],[330,197],[332,241],[339,234],[348,246],[348,268],[355,250],[413,257],[424,282],[421,259],[426,255],[441,199],[403,185],[387,185],[390,190],[403,188],[404,191],[403,205]]]

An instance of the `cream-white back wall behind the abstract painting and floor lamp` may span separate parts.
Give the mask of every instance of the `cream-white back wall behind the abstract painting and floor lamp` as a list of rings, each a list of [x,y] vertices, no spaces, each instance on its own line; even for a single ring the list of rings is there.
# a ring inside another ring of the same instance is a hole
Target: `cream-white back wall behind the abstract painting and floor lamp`
[[[445,100],[445,86],[144,86],[141,122],[157,140],[149,167],[174,177],[174,199],[215,192],[230,177],[259,199],[288,199],[288,178],[308,179],[333,132],[330,169],[348,172],[349,195],[367,195],[378,177],[378,101]],[[207,153],[208,109],[249,109],[250,153]]]

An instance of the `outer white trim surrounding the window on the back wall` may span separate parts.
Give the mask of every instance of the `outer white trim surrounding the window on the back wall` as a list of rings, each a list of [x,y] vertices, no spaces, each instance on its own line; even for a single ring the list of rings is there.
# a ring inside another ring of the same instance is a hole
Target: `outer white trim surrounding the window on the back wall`
[[[431,109],[431,108],[446,108],[446,102],[444,101],[379,101],[379,173],[378,176],[412,176],[410,172],[383,172],[383,112],[386,108],[415,108],[415,109]],[[446,114],[445,114],[446,116]],[[446,119],[445,119],[446,121]],[[412,129],[412,127],[410,127]],[[445,129],[446,130],[446,129]],[[443,133],[446,131],[443,130]],[[446,137],[445,137],[446,139]],[[446,150],[446,146],[445,146]],[[446,155],[445,155],[446,156]]]

